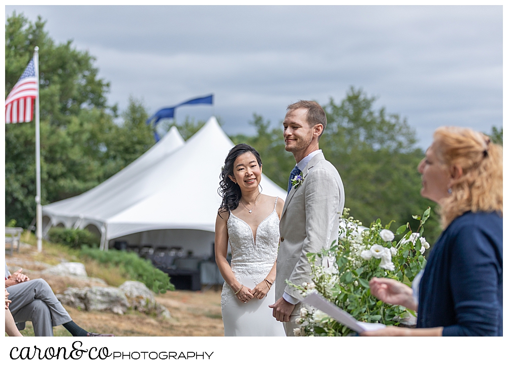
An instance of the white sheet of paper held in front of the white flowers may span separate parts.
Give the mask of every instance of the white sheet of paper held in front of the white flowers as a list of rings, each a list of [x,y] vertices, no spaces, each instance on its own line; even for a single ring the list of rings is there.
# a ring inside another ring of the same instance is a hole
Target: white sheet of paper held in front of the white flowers
[[[351,316],[346,311],[338,308],[333,303],[328,301],[328,299],[324,298],[321,294],[317,292],[310,293],[308,296],[303,298],[303,303],[306,303],[310,306],[314,306],[315,308],[323,311],[324,313],[330,315],[335,320],[337,320],[342,325],[347,326],[353,331],[358,333],[363,331],[372,331],[379,330],[385,328],[384,324],[375,324],[369,322],[357,321],[353,316]]]

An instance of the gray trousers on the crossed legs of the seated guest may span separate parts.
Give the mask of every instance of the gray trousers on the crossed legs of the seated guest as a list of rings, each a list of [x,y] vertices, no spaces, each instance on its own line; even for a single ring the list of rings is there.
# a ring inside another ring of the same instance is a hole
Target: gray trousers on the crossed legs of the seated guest
[[[52,337],[53,326],[72,321],[44,279],[11,285],[7,291],[14,321],[31,321],[36,337]]]

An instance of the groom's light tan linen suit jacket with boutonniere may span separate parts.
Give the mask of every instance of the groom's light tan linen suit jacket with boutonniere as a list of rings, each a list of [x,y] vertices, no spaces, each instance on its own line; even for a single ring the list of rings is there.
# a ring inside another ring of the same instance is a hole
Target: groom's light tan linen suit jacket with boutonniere
[[[310,282],[308,252],[319,252],[338,238],[339,220],[344,209],[344,187],[332,163],[318,153],[302,171],[303,183],[293,187],[285,200],[280,217],[280,244],[277,255],[275,299],[287,292],[297,299],[300,293],[285,283]],[[291,317],[284,323],[288,336],[293,336],[294,323],[299,314],[298,303]],[[288,331],[290,330],[290,331]]]

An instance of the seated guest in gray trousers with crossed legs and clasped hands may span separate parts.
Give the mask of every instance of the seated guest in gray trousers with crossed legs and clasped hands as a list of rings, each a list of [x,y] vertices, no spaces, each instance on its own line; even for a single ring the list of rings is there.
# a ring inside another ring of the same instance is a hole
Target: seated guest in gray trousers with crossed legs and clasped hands
[[[44,279],[30,280],[22,272],[11,274],[5,264],[5,288],[12,301],[9,309],[14,321],[31,321],[36,337],[52,337],[53,326],[63,325],[74,337],[114,337],[88,332],[79,327],[56,298]]]

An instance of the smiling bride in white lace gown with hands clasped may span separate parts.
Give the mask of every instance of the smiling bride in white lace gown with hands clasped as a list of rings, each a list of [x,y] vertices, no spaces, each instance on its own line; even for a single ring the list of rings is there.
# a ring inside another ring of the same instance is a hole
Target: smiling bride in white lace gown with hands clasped
[[[275,302],[271,288],[284,202],[260,193],[262,164],[256,149],[238,144],[224,163],[219,188],[223,201],[215,221],[215,259],[226,281],[220,302],[224,335],[283,337],[282,323],[268,305]]]

